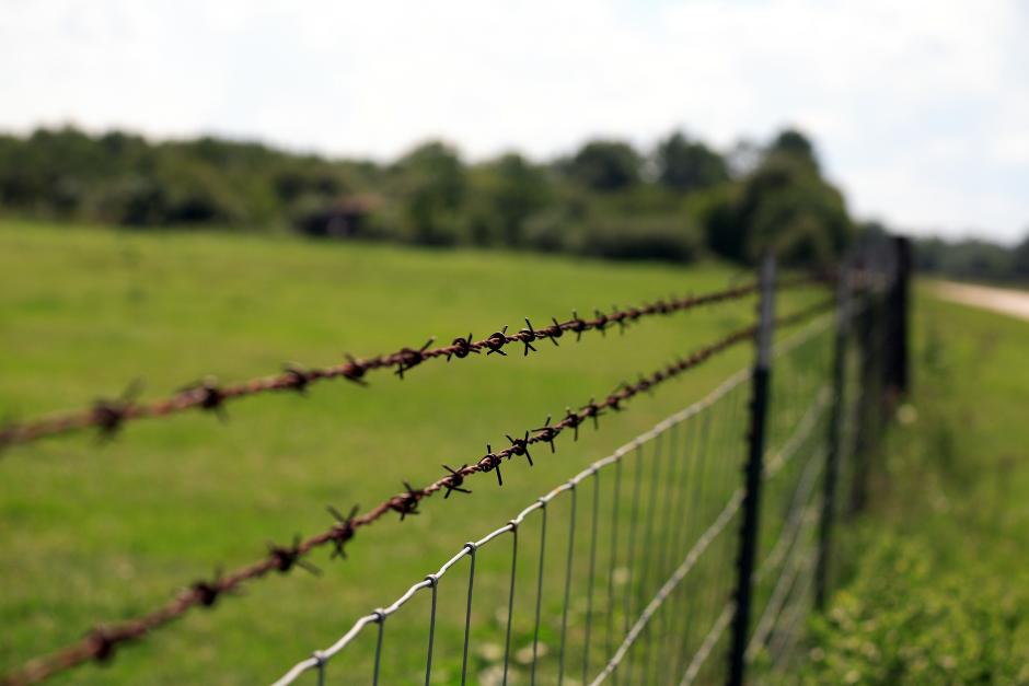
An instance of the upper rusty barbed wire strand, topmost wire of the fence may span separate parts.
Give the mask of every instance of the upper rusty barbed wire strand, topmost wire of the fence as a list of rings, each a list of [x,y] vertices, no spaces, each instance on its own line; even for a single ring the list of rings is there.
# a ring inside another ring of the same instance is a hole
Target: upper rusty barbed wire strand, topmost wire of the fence
[[[824,283],[826,280],[826,277],[822,275],[799,276],[793,279],[784,279],[779,283],[778,290]],[[229,400],[275,391],[287,391],[303,395],[311,385],[329,379],[342,377],[358,385],[367,385],[366,375],[369,372],[383,369],[392,369],[398,379],[404,379],[405,373],[426,360],[441,358],[444,358],[448,362],[454,358],[462,360],[471,354],[478,354],[483,350],[486,351],[487,356],[496,353],[506,357],[507,351],[505,348],[511,344],[522,344],[522,354],[528,356],[530,352],[537,351],[536,347],[532,345],[537,340],[548,339],[555,346],[559,346],[558,339],[565,333],[574,333],[576,341],[578,341],[585,332],[596,330],[605,335],[608,328],[612,325],[617,325],[618,329],[624,332],[627,325],[641,317],[668,315],[674,312],[694,310],[702,305],[739,300],[756,292],[756,283],[747,283],[702,295],[657,300],[652,303],[624,310],[614,307],[610,314],[596,310],[596,316],[590,319],[581,318],[578,312],[574,311],[570,319],[558,322],[556,317],[551,317],[551,324],[539,328],[533,327],[527,318],[525,327],[512,334],[508,334],[508,327],[505,326],[486,338],[473,340],[472,334],[469,333],[467,337],[454,338],[449,346],[436,348],[430,348],[435,340],[435,338],[430,338],[420,348],[405,347],[396,352],[369,358],[355,358],[346,353],[344,356],[346,358],[345,362],[325,368],[305,369],[299,364],[289,363],[284,365],[280,374],[255,377],[227,385],[219,385],[215,377],[208,376],[203,381],[184,386],[170,397],[146,403],[136,400],[136,396],[141,389],[137,381],[129,386],[129,391],[123,394],[122,397],[96,400],[88,409],[21,422],[8,422],[5,426],[0,426],[0,450],[45,437],[89,428],[99,429],[102,438],[111,438],[128,421],[167,417],[189,409],[210,411],[217,415],[219,419],[224,420],[227,418],[226,404]]]

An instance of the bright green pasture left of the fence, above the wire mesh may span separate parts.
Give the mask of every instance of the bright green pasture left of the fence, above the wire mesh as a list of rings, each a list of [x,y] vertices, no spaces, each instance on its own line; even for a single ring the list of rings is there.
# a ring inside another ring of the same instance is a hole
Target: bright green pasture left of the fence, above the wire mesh
[[[12,419],[88,406],[135,379],[143,397],[207,374],[241,380],[282,362],[357,356],[488,335],[524,316],[640,303],[725,288],[750,275],[570,261],[540,255],[430,252],[217,233],[131,233],[0,224],[0,414]],[[814,295],[788,295],[782,311]],[[486,442],[540,426],[548,412],[606,395],[749,323],[753,301],[639,323],[624,337],[563,339],[523,358],[429,363],[403,382],[313,387],[231,404],[224,426],[190,412],[16,446],[0,457],[0,666],[78,639],[99,621],[131,617],[184,584],[233,569],[331,523],[327,503],[370,507],[460,465]],[[565,342],[567,341],[567,342]],[[250,684],[277,677],[354,618],[391,602],[465,540],[750,360],[747,346],[712,360],[631,411],[604,417],[554,457],[469,482],[470,497],[425,503],[361,534],[346,562],[312,558],[302,571],[251,585],[215,612],[194,612],[57,683]],[[420,650],[420,649],[419,649]]]

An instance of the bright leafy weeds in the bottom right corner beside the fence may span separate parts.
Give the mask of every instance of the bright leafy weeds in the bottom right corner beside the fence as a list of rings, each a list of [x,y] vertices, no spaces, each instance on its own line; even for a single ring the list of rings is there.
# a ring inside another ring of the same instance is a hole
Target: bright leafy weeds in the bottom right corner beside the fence
[[[1025,586],[941,570],[932,548],[880,532],[855,583],[812,620],[801,682],[1024,684],[1027,618]]]

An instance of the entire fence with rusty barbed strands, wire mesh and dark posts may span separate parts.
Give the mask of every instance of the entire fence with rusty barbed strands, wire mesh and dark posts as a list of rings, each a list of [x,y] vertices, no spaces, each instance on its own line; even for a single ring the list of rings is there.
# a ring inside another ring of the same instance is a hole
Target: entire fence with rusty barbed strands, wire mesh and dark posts
[[[644,316],[760,298],[756,324],[623,383],[600,402],[590,398],[557,421],[548,418],[508,437],[510,445],[502,450],[487,446],[485,455],[446,467],[427,486],[405,484],[404,492],[365,513],[333,511],[335,521],[321,534],[270,546],[258,561],[195,581],[135,619],[99,626],[2,683],[36,683],[91,660],[109,660],[123,644],[152,636],[192,608],[215,606],[244,583],[310,568],[307,556],[315,548],[345,555],[361,528],[391,512],[404,520],[433,495],[470,492],[466,481],[477,474],[494,472],[502,485],[500,467],[512,457],[531,466],[530,449],[545,443],[554,451],[560,434],[577,437],[581,425],[596,426],[634,396],[750,340],[759,350],[753,370],[733,375],[499,528],[466,543],[392,605],[359,618],[277,683],[309,677],[325,683],[329,674],[374,684],[742,683],[752,663],[782,668],[794,654],[807,611],[824,604],[832,588],[834,522],[863,507],[875,437],[890,403],[906,388],[901,349],[906,348],[906,251],[902,240],[864,246],[835,275],[836,297],[781,316],[773,309],[776,292],[826,278],[776,282],[770,259],[759,281],[706,295],[598,311],[591,319],[574,314],[542,328],[527,321],[517,334],[505,327],[477,341],[469,334],[451,346],[430,348],[429,341],[417,350],[349,358],[332,368],[293,365],[234,385],[208,380],[149,404],[129,396],[10,425],[0,432],[0,444],[86,427],[111,434],[131,419],[190,408],[220,412],[226,400],[255,393],[302,393],[333,377],[363,383],[368,372],[382,369],[403,377],[426,360],[482,351],[504,356],[511,344],[528,356],[536,351],[533,342],[547,338],[558,345],[565,333],[603,334]],[[778,329],[800,324],[805,328],[773,352]],[[852,348],[856,354],[848,356]],[[419,613],[427,618],[420,628]],[[728,659],[716,658],[726,650]]]

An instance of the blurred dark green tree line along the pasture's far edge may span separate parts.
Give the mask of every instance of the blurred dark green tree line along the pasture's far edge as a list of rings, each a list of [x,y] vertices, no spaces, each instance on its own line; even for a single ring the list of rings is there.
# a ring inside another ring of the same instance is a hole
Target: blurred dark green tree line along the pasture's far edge
[[[682,131],[650,150],[597,139],[544,163],[513,152],[470,163],[439,141],[382,163],[212,137],[38,129],[0,136],[0,211],[682,263],[750,263],[773,249],[824,264],[862,229],[794,129],[727,152]]]

